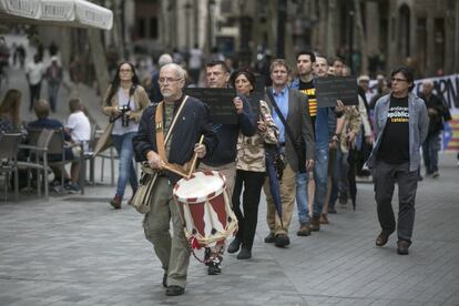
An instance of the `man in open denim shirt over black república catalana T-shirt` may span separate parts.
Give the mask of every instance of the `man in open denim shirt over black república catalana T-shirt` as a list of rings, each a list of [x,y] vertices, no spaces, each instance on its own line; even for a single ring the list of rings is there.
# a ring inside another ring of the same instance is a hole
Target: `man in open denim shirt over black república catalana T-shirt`
[[[375,200],[381,232],[377,246],[384,246],[397,226],[397,253],[408,254],[415,224],[415,198],[420,166],[419,149],[429,129],[422,99],[410,91],[414,73],[400,67],[391,73],[391,93],[375,105],[376,143],[368,159],[375,182]],[[395,145],[396,144],[396,145]],[[392,210],[395,183],[398,184],[398,221]]]

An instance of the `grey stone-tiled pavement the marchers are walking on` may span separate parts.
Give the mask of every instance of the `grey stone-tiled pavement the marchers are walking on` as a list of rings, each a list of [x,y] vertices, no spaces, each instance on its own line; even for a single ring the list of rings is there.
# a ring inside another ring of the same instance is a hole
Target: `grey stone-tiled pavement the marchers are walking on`
[[[0,203],[0,305],[459,305],[459,167],[441,156],[440,177],[419,184],[410,255],[396,236],[375,246],[371,184],[358,185],[357,211],[338,205],[330,225],[287,249],[263,243],[261,204],[253,258],[226,255],[223,274],[191,258],[185,295],[166,297],[162,269],[144,239],[142,216],[110,208],[114,187]],[[395,195],[395,201],[397,196]]]

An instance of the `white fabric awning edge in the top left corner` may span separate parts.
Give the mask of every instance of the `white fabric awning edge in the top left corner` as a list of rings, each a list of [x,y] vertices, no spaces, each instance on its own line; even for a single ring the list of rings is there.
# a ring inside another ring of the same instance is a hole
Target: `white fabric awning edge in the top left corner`
[[[110,30],[113,13],[85,0],[0,0],[0,20]]]

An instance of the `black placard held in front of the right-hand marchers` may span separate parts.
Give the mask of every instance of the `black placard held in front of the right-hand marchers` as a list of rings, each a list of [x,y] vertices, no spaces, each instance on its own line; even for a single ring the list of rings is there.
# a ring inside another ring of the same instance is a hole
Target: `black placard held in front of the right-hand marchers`
[[[358,104],[357,80],[354,76],[317,78],[315,82],[317,108],[336,106],[336,100],[345,105]]]

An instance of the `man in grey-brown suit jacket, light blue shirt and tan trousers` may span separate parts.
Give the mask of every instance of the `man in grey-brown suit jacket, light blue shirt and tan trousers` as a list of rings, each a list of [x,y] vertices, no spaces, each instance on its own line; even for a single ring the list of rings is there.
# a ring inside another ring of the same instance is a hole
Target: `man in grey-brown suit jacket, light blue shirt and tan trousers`
[[[265,238],[265,243],[274,243],[277,247],[287,246],[290,243],[288,227],[295,205],[296,173],[300,166],[305,166],[306,171],[313,169],[315,152],[307,95],[287,86],[289,71],[285,60],[277,59],[273,61],[271,65],[273,86],[267,89],[266,96],[266,101],[272,106],[273,119],[279,129],[280,151],[285,156],[286,164],[280,182],[282,223],[275,212],[268,182],[264,186],[268,205],[266,220],[269,226],[269,235]],[[277,104],[285,121],[288,123],[292,136],[286,131],[275,108],[273,108],[273,103]],[[300,142],[302,137],[303,142]],[[305,150],[306,152],[306,161],[298,159],[297,149],[295,147],[298,143],[302,143],[299,150]]]

